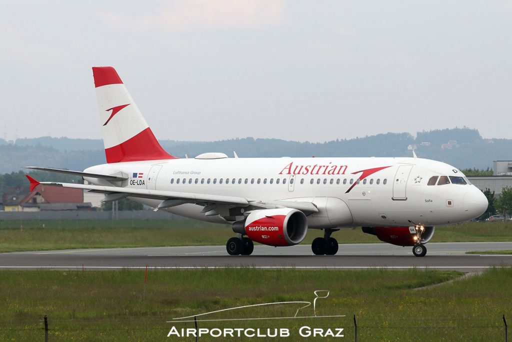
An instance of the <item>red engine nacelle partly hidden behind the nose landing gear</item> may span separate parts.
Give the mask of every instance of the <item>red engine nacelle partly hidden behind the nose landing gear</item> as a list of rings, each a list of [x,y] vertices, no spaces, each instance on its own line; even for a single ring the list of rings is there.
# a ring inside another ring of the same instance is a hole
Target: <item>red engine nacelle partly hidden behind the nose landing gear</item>
[[[421,243],[427,243],[434,236],[435,227],[424,227],[421,234],[421,241],[414,239],[416,229],[412,227],[362,227],[362,231],[377,236],[380,241],[397,246],[414,246]]]

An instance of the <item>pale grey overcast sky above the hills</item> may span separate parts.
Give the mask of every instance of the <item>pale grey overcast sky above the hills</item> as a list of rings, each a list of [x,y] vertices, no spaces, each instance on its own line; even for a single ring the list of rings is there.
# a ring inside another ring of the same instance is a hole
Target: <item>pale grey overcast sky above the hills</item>
[[[2,138],[100,138],[92,66],[159,139],[512,138],[512,1],[4,0],[0,47]]]

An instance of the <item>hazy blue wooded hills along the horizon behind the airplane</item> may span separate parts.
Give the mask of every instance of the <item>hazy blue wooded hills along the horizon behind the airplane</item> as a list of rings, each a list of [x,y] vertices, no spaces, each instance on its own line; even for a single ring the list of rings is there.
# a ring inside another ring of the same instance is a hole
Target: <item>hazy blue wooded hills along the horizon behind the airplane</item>
[[[435,159],[458,168],[492,167],[493,160],[512,159],[512,139],[483,139],[466,127],[429,132],[386,133],[323,143],[281,139],[229,139],[213,142],[161,140],[170,154],[194,157],[204,152],[236,151],[240,157],[409,157],[416,148],[422,158]],[[0,173],[38,165],[82,170],[105,162],[99,139],[24,138],[15,143],[0,139]]]

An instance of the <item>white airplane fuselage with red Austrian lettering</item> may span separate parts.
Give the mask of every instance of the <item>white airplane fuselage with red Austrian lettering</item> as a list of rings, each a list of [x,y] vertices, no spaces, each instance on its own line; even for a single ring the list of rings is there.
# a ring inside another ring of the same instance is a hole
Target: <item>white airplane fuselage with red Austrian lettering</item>
[[[309,228],[443,225],[471,220],[487,208],[485,196],[474,185],[428,185],[434,176],[467,179],[453,166],[421,158],[172,159],[103,164],[86,172],[129,178],[122,182],[85,178],[97,185],[312,202],[318,212],[308,216]],[[161,202],[132,199],[152,207]],[[164,210],[231,222],[205,216],[203,209],[203,205],[183,204]]]

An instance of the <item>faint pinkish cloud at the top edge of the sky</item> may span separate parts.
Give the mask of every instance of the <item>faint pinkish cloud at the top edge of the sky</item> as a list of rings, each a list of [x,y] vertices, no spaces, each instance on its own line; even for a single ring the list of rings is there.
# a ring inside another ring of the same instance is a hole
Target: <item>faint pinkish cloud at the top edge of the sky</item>
[[[277,25],[284,9],[284,0],[178,0],[158,13],[97,15],[105,24],[117,28],[222,29]]]

